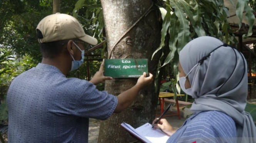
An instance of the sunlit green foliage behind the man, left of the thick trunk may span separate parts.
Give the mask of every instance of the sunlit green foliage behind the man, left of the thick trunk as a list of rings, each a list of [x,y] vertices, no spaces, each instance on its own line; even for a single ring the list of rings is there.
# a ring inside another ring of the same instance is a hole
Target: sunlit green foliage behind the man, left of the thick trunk
[[[75,11],[75,2],[62,0],[61,13],[72,15]],[[86,3],[87,5],[80,7],[74,14],[85,32],[94,35],[100,42],[103,37],[103,22],[100,23],[96,16],[102,13],[94,11],[94,8],[100,7],[100,1],[87,0]],[[39,21],[50,14],[52,0],[3,0],[0,3],[0,86],[8,86],[17,75],[41,62],[42,55],[35,29]],[[101,52],[99,49],[90,54],[102,54]],[[100,62],[89,62],[89,65],[90,75],[94,75],[99,69]],[[71,72],[68,76],[78,75],[81,79],[87,78],[84,65],[79,72]]]

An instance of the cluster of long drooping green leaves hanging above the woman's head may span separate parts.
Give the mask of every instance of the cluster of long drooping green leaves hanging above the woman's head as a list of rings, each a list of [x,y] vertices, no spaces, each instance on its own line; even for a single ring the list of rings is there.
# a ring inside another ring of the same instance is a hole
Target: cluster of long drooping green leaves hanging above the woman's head
[[[230,1],[233,3],[233,0]],[[240,21],[239,26],[241,27],[244,11],[246,12],[245,17],[250,26],[248,34],[244,35],[244,37],[251,36],[254,23],[253,11],[249,7],[248,2],[248,0],[238,0],[236,5],[236,13]],[[175,80],[172,82],[172,91],[176,93],[179,90],[179,86],[176,85],[179,79],[179,72],[177,71],[179,52],[187,42],[200,36],[213,36],[220,40],[223,40],[224,37],[229,44],[237,43],[237,41],[235,38],[232,38],[234,34],[232,34],[233,31],[227,20],[229,16],[228,8],[224,6],[223,0],[166,0],[166,10],[167,13],[164,17],[162,27],[161,44],[155,53],[165,46],[165,40],[169,38],[170,52],[163,53],[166,59],[160,67],[171,63],[172,72],[175,75]],[[162,15],[166,12],[162,9],[161,11]],[[171,13],[173,12],[173,14],[169,15],[169,11]],[[168,24],[169,36],[167,37]]]

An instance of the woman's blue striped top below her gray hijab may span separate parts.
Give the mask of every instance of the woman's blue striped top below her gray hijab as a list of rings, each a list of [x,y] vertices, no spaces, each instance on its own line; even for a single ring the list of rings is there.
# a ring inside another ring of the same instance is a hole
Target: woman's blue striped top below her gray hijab
[[[223,112],[200,112],[189,117],[166,143],[236,143],[236,125]]]

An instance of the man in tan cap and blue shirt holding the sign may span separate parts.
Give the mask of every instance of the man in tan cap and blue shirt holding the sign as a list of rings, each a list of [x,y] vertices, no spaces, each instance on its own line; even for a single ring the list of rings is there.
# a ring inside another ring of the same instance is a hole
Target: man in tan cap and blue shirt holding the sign
[[[139,91],[152,82],[144,73],[137,84],[113,96],[95,85],[104,61],[90,81],[66,78],[84,60],[84,44],[97,44],[74,17],[56,13],[37,26],[42,63],[15,78],[8,90],[8,143],[88,142],[89,118],[105,120],[128,107]]]

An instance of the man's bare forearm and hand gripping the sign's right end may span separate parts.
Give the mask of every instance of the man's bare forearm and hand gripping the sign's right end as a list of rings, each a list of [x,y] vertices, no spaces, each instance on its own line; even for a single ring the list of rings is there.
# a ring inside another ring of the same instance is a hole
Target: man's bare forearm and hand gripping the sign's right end
[[[117,96],[117,107],[115,107],[114,113],[120,113],[127,108],[136,98],[139,91],[147,85],[150,85],[153,81],[153,75],[149,73],[149,77],[146,77],[146,72],[138,79],[135,86],[124,91]]]

